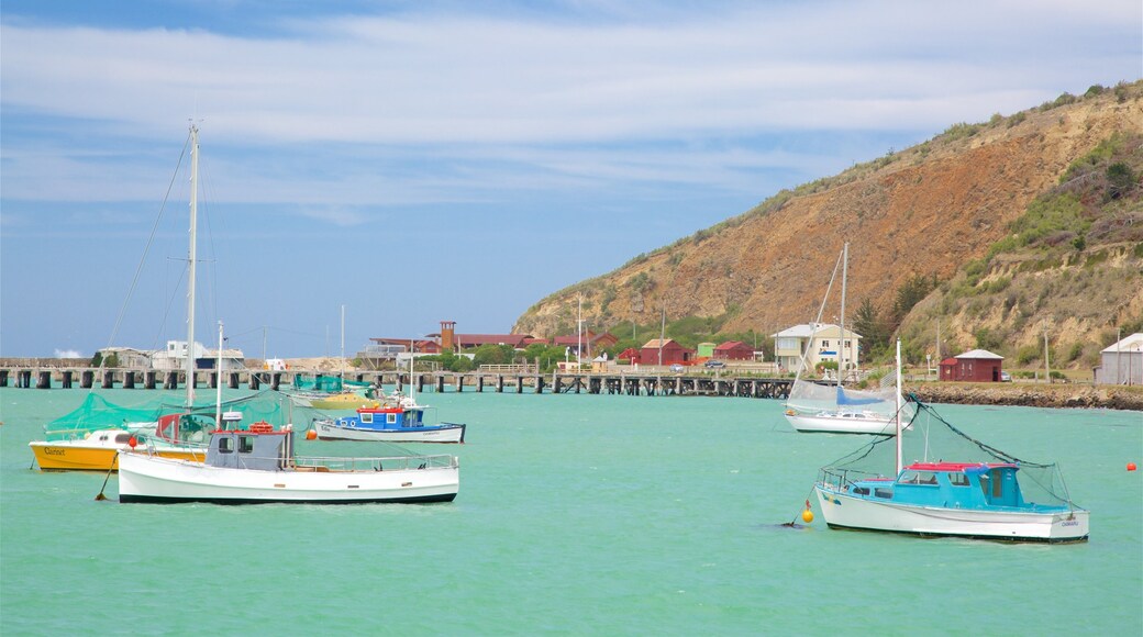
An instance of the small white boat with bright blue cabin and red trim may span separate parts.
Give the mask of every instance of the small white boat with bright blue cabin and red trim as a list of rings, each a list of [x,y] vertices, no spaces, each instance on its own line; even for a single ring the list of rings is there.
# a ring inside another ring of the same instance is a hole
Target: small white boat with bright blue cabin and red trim
[[[382,441],[395,443],[463,443],[466,426],[456,422],[425,424],[425,411],[411,397],[390,396],[376,408],[360,408],[353,416],[313,421],[322,441]]]

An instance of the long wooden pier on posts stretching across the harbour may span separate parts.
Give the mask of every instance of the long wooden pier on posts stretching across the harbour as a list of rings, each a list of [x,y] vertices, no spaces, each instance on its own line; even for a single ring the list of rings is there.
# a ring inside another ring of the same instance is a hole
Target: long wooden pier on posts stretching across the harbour
[[[304,370],[223,371],[198,370],[193,373],[194,387],[215,389],[222,382],[230,389],[288,389],[295,377],[334,377]],[[785,398],[793,380],[789,378],[733,377],[692,373],[552,373],[536,372],[408,372],[354,371],[345,373],[347,380],[371,382],[377,386],[394,385],[398,389],[415,386],[419,393],[486,390],[503,394],[609,394],[624,396],[738,396],[750,398]],[[186,387],[186,372],[160,370],[130,370],[105,368],[0,368],[0,387],[22,389],[179,389]]]

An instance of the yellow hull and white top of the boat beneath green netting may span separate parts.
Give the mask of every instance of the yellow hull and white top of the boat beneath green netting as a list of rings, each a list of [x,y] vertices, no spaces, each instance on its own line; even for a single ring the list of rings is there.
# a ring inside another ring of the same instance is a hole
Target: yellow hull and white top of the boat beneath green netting
[[[119,468],[120,451],[131,449],[135,434],[125,429],[99,429],[83,437],[62,441],[32,441],[35,463],[45,471],[110,471]],[[138,438],[136,438],[136,444]],[[154,444],[154,453],[163,458],[178,458],[202,462],[206,447]]]

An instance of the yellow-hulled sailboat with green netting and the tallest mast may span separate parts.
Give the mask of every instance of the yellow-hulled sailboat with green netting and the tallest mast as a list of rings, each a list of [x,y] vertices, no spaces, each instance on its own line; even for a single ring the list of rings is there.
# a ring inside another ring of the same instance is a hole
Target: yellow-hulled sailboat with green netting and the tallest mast
[[[182,409],[151,403],[130,408],[89,395],[75,411],[49,422],[46,440],[29,446],[41,470],[95,470],[118,468],[120,452],[147,445],[158,455],[201,461],[206,447],[193,438],[203,438],[205,425],[195,421],[194,410],[194,289],[198,237],[198,128],[191,126],[190,248],[187,250],[186,309],[186,401]],[[221,348],[221,346],[219,346]],[[221,366],[219,366],[221,371]],[[221,384],[219,384],[221,385]]]

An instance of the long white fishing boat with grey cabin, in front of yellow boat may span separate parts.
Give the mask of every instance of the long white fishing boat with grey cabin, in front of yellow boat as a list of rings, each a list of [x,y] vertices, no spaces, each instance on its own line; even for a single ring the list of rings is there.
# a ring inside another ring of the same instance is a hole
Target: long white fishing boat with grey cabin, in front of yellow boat
[[[301,458],[289,426],[230,426],[211,434],[205,462],[161,458],[142,447],[121,453],[119,501],[449,502],[459,491],[455,455]]]

